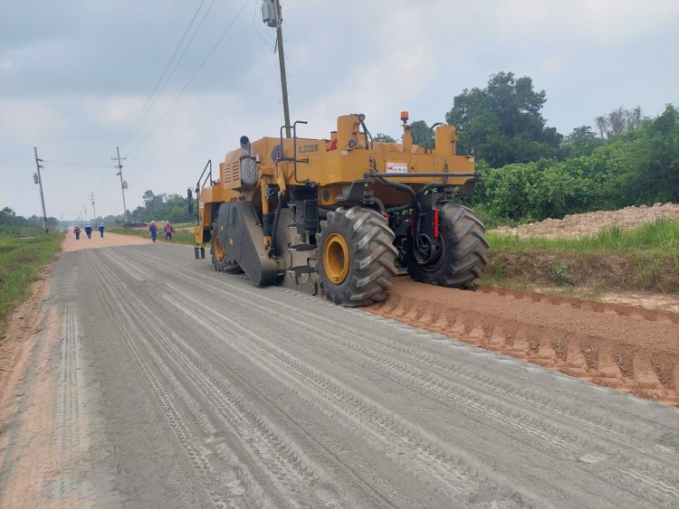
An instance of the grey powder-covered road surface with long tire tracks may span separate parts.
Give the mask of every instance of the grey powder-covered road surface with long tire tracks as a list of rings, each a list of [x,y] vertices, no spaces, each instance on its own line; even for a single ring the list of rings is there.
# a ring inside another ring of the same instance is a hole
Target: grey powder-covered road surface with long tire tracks
[[[679,505],[675,409],[253,287],[185,246],[67,252],[52,279],[53,446],[86,450],[45,474],[50,503]],[[5,451],[0,489],[11,474]]]

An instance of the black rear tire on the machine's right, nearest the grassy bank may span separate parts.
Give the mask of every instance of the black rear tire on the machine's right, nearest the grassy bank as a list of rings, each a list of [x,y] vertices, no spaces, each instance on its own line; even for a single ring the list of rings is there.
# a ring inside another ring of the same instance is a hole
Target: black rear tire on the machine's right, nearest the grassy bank
[[[487,265],[485,226],[472,209],[459,203],[437,206],[442,254],[429,265],[420,265],[408,242],[408,272],[416,281],[468,289]]]

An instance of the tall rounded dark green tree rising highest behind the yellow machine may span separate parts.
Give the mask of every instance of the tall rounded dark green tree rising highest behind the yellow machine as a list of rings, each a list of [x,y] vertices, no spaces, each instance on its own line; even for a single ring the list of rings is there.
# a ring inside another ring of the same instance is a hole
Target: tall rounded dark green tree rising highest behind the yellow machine
[[[540,114],[546,97],[544,90],[533,90],[528,76],[498,72],[485,89],[464,89],[455,96],[445,120],[463,128],[459,152],[474,149],[493,167],[534,161],[555,156],[562,139]]]

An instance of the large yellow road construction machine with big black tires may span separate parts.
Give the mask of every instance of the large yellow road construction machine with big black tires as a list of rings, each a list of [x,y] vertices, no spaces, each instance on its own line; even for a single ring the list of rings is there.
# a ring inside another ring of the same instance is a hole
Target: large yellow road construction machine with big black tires
[[[302,121],[279,137],[241,137],[196,183],[196,259],[209,243],[219,272],[343,306],[385,300],[397,274],[472,287],[488,248],[459,203],[481,179],[473,156],[455,153],[456,127],[435,124],[432,146],[417,146],[406,111],[401,120],[400,144],[374,141],[362,114],[339,117],[328,139],[297,137]]]

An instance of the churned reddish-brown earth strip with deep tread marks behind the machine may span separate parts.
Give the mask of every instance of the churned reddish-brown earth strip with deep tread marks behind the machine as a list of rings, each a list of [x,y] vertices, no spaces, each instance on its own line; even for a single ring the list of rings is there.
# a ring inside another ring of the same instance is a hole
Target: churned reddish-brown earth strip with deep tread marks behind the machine
[[[679,406],[679,314],[396,278],[368,311],[590,382]]]

